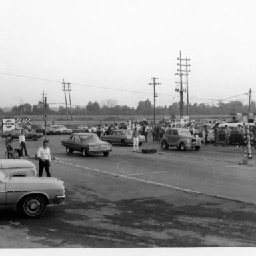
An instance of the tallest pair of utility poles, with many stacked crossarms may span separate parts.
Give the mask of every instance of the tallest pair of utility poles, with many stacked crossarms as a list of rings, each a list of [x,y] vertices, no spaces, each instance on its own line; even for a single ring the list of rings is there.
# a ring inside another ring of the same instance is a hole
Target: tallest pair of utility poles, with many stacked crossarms
[[[190,64],[187,64],[187,61],[190,61],[190,59],[182,59],[181,58],[181,51],[179,51],[179,58],[177,58],[177,60],[179,61],[179,63],[177,63],[177,66],[179,66],[179,69],[177,69],[177,71],[179,73],[175,73],[175,75],[179,75],[180,76],[180,81],[179,82],[175,82],[175,83],[179,83],[180,85],[180,89],[176,88],[175,91],[180,93],[180,100],[179,100],[179,115],[180,118],[183,116],[183,92],[187,92],[187,115],[189,115],[189,88],[188,88],[188,72],[190,72],[190,70],[187,70],[187,67],[190,66]],[[186,64],[183,64],[182,61],[186,61]],[[186,70],[183,70],[182,67],[185,66]],[[184,74],[185,72],[185,74]],[[186,75],[187,76],[187,82],[183,82],[182,81],[182,76]],[[187,89],[184,88],[183,89],[183,83],[185,83],[187,85]]]

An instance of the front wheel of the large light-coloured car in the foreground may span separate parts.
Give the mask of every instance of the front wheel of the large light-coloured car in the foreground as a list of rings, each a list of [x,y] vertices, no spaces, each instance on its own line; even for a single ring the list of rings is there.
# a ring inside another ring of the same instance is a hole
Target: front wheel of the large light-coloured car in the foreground
[[[29,195],[23,199],[20,207],[26,217],[37,218],[45,213],[46,202],[41,195]]]

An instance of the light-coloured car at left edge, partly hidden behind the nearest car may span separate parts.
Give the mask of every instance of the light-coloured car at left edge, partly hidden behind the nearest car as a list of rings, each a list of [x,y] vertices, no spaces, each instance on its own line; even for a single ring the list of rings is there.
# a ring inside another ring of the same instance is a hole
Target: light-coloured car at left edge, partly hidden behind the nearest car
[[[25,159],[0,159],[0,171],[7,176],[36,176],[35,165]]]

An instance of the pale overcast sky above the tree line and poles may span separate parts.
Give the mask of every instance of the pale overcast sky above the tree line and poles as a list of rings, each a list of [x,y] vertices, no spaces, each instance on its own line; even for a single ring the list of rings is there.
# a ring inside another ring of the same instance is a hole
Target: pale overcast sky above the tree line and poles
[[[256,89],[254,2],[1,0],[0,107],[36,105],[43,93],[58,107],[63,81],[72,105],[113,99],[137,107],[153,103],[152,77],[160,83],[156,105],[169,106],[179,101],[180,52],[190,59],[190,103],[248,104]]]

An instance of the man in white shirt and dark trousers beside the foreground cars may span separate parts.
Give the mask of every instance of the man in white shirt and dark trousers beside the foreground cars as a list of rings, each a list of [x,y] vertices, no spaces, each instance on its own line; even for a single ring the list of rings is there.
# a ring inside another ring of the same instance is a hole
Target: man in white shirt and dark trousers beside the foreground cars
[[[47,177],[51,177],[50,165],[51,165],[51,151],[48,147],[49,141],[43,141],[43,147],[39,147],[37,151],[37,157],[39,158],[39,177],[42,177],[43,168]]]

